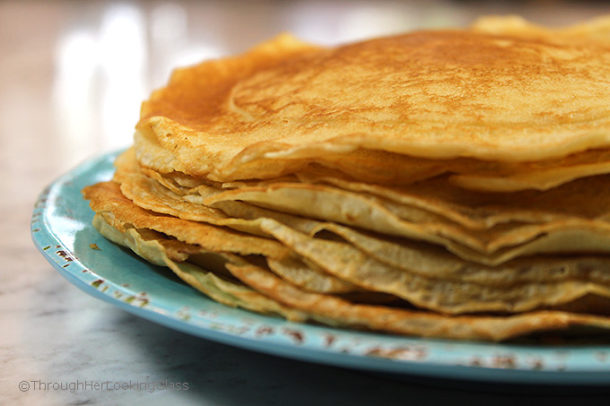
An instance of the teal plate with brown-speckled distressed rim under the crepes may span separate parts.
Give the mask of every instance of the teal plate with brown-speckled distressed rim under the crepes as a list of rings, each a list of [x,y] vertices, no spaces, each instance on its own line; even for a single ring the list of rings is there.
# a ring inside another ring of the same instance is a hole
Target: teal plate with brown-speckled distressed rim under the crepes
[[[34,243],[66,279],[137,316],[225,344],[369,371],[517,384],[610,384],[610,344],[496,344],[305,325],[209,300],[168,270],[97,233],[80,190],[113,173],[118,152],[90,160],[40,195]]]

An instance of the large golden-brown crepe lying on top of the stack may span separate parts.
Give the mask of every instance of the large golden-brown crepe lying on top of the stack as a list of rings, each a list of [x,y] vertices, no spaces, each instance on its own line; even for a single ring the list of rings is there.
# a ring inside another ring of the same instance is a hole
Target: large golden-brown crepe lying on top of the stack
[[[363,149],[523,162],[606,148],[608,45],[564,37],[419,31],[320,48],[282,35],[176,70],[142,106],[138,159],[226,181]]]

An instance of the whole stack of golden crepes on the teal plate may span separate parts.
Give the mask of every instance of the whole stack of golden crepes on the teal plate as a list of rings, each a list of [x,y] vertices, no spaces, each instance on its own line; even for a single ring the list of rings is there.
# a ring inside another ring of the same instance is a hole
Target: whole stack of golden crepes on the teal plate
[[[110,182],[110,240],[295,321],[610,332],[610,19],[484,18],[176,70]]]

